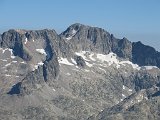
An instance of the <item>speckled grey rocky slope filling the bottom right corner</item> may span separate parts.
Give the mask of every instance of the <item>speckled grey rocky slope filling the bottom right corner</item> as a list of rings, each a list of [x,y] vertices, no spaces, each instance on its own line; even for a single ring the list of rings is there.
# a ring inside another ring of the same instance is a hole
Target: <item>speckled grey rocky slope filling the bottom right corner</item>
[[[155,97],[143,100],[124,111],[106,115],[102,112],[97,117],[90,117],[89,120],[158,120],[160,118],[158,106],[159,97]]]

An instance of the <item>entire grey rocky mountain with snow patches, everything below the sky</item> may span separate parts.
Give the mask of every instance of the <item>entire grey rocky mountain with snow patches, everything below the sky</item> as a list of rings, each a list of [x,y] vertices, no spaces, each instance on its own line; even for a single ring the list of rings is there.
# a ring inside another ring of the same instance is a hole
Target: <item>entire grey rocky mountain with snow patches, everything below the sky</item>
[[[73,24],[0,36],[0,119],[159,120],[160,53]]]

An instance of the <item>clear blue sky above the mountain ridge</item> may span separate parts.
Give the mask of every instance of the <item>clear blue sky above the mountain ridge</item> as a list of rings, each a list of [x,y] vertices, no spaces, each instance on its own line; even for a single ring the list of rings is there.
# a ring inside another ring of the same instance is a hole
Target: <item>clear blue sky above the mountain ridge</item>
[[[160,51],[160,0],[0,0],[0,32],[55,29],[73,23],[104,28]]]

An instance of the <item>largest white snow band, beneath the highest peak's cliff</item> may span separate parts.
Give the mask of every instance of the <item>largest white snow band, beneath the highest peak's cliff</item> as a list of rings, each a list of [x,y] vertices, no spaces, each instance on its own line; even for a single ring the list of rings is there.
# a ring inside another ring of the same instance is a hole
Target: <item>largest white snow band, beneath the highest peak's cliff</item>
[[[80,52],[75,52],[75,54],[78,55],[78,56],[81,56],[87,62],[88,61],[100,62],[100,63],[103,64],[102,65],[103,67],[107,67],[107,66],[110,66],[110,65],[115,65],[116,68],[119,69],[121,67],[121,65],[122,66],[130,65],[135,70],[140,70],[142,68],[145,68],[147,70],[151,70],[151,69],[157,68],[156,66],[140,67],[139,65],[134,64],[129,60],[120,61],[120,60],[118,60],[117,55],[113,52],[110,52],[109,54],[105,55],[105,54],[96,54],[96,53],[89,52],[89,51],[80,51]],[[86,62],[87,66],[89,66],[89,67],[93,66],[92,64],[89,64],[87,62]],[[75,63],[75,62],[72,60],[72,63]]]

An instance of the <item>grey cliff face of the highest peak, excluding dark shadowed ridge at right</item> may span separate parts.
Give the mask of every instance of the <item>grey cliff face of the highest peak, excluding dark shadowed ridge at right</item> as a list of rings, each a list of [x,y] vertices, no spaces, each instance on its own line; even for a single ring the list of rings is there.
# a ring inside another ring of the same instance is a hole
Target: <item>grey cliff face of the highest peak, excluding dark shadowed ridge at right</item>
[[[116,39],[102,28],[73,24],[61,35],[74,51],[92,51],[131,59],[132,43],[126,38]]]

